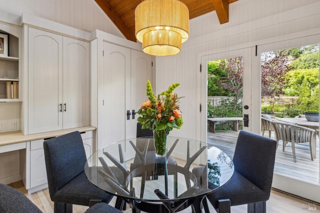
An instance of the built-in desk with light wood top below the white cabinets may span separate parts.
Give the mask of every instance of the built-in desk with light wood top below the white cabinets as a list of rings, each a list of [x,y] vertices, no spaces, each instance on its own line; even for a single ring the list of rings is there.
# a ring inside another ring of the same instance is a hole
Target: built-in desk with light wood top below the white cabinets
[[[72,131],[81,132],[87,157],[94,152],[94,126],[23,135],[20,131],[0,133],[0,182],[23,180],[29,193],[47,187],[43,153],[45,139]]]

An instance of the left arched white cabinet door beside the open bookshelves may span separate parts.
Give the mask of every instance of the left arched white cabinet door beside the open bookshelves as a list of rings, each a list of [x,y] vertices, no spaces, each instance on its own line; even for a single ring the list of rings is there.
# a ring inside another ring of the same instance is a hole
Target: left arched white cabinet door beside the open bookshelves
[[[62,36],[28,28],[28,133],[62,129]]]

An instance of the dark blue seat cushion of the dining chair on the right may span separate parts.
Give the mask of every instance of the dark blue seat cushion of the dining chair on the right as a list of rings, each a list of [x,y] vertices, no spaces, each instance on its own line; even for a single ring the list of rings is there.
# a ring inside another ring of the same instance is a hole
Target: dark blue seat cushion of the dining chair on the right
[[[234,171],[230,180],[220,189],[207,195],[209,201],[215,208],[218,207],[218,199],[230,199],[231,206],[269,199],[268,194],[264,193],[237,171]]]

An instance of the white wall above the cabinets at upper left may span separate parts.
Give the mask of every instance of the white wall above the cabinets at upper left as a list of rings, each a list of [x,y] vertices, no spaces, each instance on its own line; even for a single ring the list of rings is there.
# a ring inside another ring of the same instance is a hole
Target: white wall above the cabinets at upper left
[[[95,29],[124,37],[94,0],[0,0],[0,13],[35,15],[87,32]]]

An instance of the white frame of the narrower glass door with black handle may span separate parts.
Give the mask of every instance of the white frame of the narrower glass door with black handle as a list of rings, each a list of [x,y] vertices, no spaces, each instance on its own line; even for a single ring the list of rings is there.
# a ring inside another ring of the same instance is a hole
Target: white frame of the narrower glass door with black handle
[[[242,113],[248,115],[248,126],[243,125],[243,130],[252,131],[254,121],[251,119],[252,108],[255,107],[251,101],[251,48],[243,48],[230,51],[216,51],[201,56],[201,141],[206,141],[207,134],[207,62],[233,58],[242,56],[243,58],[243,97],[242,106],[248,106],[247,108],[242,107]]]

